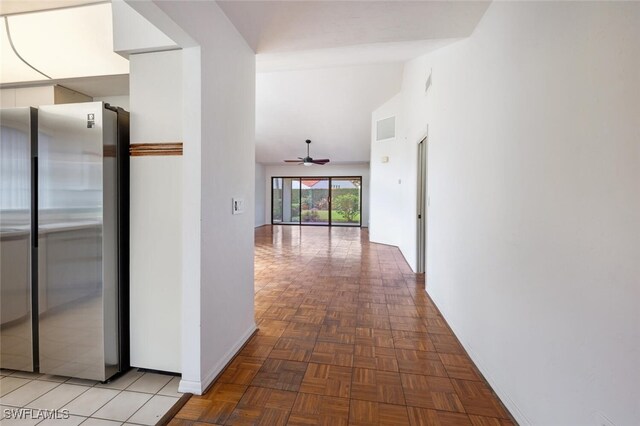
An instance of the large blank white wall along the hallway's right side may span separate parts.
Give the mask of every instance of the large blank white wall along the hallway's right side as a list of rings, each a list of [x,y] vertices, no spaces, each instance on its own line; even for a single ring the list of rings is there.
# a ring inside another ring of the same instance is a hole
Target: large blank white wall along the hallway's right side
[[[638,40],[639,3],[494,2],[405,67],[413,182],[429,126],[427,289],[521,424],[640,423]]]

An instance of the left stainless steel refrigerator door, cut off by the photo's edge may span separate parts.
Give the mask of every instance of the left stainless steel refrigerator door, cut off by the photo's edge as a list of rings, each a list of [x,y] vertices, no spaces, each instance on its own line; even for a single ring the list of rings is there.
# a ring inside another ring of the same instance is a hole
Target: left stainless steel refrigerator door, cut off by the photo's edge
[[[0,368],[23,371],[34,370],[32,120],[31,108],[0,110]]]

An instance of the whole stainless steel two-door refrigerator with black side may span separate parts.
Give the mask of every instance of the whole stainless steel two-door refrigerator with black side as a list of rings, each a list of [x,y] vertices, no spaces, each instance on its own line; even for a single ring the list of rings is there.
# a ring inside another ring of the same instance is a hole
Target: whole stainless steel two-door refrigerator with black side
[[[107,380],[129,367],[129,115],[0,111],[0,367]]]

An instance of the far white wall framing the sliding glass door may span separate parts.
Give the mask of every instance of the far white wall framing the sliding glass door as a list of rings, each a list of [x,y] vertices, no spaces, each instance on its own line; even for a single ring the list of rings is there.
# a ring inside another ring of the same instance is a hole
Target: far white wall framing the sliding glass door
[[[362,176],[362,226],[369,226],[369,165],[368,164],[344,164],[324,166],[298,166],[298,165],[268,165],[265,170],[265,206],[264,214],[266,223],[271,223],[271,178],[281,176]]]

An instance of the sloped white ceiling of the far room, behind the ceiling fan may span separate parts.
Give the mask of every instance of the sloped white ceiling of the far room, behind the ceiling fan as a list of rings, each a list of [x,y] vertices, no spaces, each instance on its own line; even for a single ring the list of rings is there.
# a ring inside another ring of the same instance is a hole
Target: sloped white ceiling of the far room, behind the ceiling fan
[[[256,161],[369,161],[371,111],[400,91],[400,63],[259,73]]]

